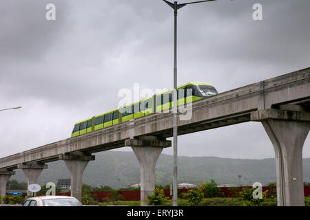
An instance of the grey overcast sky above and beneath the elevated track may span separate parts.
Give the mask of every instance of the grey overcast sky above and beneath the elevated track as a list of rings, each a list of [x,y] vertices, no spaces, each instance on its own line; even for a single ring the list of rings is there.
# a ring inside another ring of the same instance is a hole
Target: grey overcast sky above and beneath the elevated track
[[[179,1],[183,3],[185,1]],[[56,21],[45,19],[48,3]],[[262,21],[254,21],[254,3]],[[309,0],[218,0],[178,11],[178,85],[219,92],[310,66]],[[118,91],[173,87],[174,14],[161,0],[1,0],[0,157],[70,137]],[[120,148],[131,151],[130,148]],[[163,153],[172,154],[172,148]],[[178,137],[178,155],[274,157],[260,122]],[[310,137],[303,157],[310,157]]]

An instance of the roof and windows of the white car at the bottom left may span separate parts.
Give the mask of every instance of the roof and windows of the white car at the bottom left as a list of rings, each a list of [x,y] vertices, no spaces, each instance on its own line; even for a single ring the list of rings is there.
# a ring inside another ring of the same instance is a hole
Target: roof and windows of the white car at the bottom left
[[[32,197],[27,199],[22,206],[83,206],[82,203],[74,197],[47,196]]]

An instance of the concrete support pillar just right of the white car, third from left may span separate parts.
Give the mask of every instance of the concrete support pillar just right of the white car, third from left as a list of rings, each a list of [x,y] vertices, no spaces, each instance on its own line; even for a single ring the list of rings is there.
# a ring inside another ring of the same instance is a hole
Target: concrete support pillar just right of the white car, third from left
[[[61,155],[61,159],[65,162],[70,170],[71,176],[71,196],[82,199],[82,177],[88,162],[94,160],[94,155],[85,155],[84,153],[70,153]]]

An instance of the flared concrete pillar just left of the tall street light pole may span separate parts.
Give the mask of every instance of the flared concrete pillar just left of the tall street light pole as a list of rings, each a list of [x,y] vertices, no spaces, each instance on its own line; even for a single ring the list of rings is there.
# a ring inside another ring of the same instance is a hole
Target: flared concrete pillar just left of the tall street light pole
[[[126,140],[125,145],[132,146],[140,164],[141,206],[145,206],[147,195],[152,194],[155,188],[157,159],[164,147],[171,146],[171,141],[158,140],[156,137],[143,137],[143,140]]]

